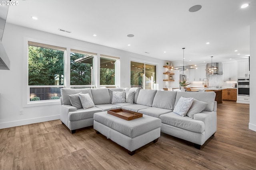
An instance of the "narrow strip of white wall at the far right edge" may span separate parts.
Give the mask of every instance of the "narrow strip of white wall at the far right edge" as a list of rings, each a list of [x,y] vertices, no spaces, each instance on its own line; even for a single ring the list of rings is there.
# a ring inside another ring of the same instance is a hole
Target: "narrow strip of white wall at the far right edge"
[[[250,122],[249,129],[256,131],[256,22],[250,25]]]

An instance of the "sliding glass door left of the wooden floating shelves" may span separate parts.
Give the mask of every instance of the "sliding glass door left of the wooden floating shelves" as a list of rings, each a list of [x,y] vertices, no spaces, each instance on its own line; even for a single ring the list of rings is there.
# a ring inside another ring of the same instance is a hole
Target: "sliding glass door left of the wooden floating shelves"
[[[131,87],[155,89],[156,66],[131,61]]]

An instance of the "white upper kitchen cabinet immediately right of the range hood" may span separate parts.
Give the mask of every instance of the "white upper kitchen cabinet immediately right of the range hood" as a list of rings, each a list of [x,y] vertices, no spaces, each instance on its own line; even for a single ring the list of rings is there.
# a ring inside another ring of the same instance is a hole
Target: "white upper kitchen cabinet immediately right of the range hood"
[[[223,64],[223,81],[237,81],[237,63]]]

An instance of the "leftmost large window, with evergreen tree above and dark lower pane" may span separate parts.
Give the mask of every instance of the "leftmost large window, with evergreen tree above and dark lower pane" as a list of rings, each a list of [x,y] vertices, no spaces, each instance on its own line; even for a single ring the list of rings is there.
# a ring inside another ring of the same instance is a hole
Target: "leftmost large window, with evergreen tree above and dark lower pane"
[[[28,42],[30,101],[60,98],[64,86],[65,48]]]

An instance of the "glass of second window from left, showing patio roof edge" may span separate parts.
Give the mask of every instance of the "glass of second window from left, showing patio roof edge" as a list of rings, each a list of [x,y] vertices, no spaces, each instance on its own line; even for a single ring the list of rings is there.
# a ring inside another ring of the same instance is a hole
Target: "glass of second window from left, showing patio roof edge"
[[[70,53],[70,85],[92,85],[94,55]]]

